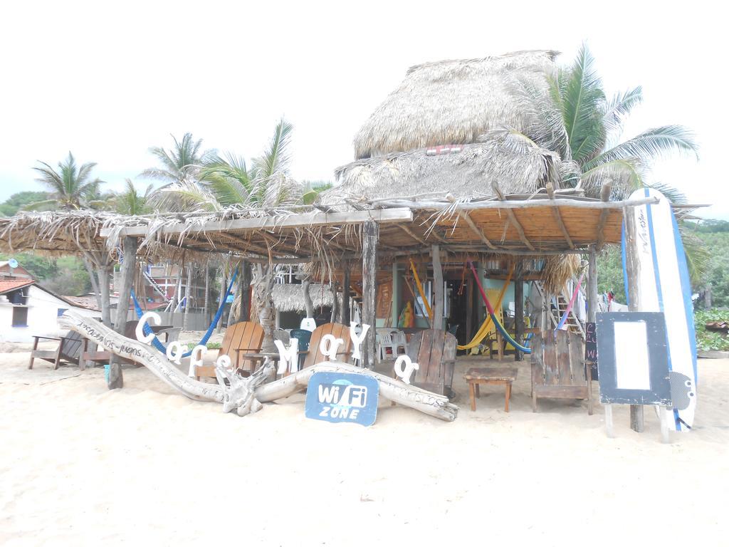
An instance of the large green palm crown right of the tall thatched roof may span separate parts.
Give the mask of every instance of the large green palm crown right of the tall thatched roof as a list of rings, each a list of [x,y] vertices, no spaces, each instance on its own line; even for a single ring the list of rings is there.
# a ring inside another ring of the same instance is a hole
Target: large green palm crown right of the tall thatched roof
[[[643,100],[637,87],[607,98],[595,61],[582,44],[572,66],[547,77],[547,93],[526,81],[518,82],[519,106],[531,112],[526,131],[509,131],[507,138],[557,152],[572,166],[563,174],[566,186],[598,195],[604,183],[615,197],[647,184],[653,160],[671,153],[697,155],[693,134],[681,125],[648,129],[620,141],[625,119]]]

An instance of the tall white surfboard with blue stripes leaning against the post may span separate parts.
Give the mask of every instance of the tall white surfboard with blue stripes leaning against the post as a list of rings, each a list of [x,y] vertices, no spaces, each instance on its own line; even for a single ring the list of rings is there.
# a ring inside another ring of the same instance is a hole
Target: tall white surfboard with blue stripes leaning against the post
[[[679,228],[668,199],[652,188],[636,190],[631,199],[656,197],[656,204],[634,207],[636,226],[631,255],[637,259],[638,291],[628,295],[628,302],[637,304],[636,311],[663,311],[666,317],[666,344],[671,384],[680,381],[685,389],[676,389],[671,427],[690,430],[696,408],[696,335],[693,325],[691,284]],[[626,241],[623,227],[623,271],[625,272]],[[634,299],[634,300],[633,300]],[[683,375],[683,376],[681,376]],[[672,385],[673,387],[673,385]],[[680,395],[680,394],[683,395]]]

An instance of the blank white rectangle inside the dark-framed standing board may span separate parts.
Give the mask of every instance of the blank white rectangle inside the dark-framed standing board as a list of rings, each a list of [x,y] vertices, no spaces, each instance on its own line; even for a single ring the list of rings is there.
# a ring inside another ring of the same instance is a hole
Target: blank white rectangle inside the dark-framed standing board
[[[645,323],[615,323],[617,389],[650,389],[648,335]]]

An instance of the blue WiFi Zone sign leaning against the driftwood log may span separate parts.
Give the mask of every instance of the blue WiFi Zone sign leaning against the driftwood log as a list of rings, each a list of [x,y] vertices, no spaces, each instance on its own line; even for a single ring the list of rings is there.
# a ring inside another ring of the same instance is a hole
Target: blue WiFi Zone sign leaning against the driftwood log
[[[372,425],[377,419],[379,395],[380,384],[371,376],[317,372],[306,391],[306,417]]]

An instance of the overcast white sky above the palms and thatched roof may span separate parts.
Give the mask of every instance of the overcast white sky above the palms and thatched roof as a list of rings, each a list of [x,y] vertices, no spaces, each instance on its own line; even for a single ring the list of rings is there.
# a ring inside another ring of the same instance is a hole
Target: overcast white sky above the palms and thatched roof
[[[729,218],[725,21],[701,1],[4,2],[0,201],[39,189],[31,166],[69,150],[112,188],[154,166],[147,148],[170,133],[251,158],[281,116],[294,176],[331,180],[409,66],[526,49],[568,63],[586,40],[607,90],[644,88],[625,136],[679,123],[698,137],[698,162],[662,161],[655,179]]]

